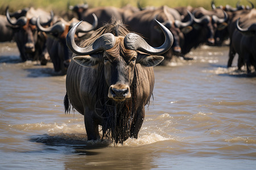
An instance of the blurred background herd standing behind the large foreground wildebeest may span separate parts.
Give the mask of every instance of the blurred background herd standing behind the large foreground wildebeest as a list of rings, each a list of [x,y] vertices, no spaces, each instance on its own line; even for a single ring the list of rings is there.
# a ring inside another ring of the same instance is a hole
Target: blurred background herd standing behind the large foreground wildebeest
[[[154,21],[156,19],[174,36],[174,44],[163,54],[165,58],[160,65],[166,65],[174,55],[189,59],[185,54],[201,44],[220,46],[230,39],[228,67],[237,53],[238,69],[246,65],[250,73],[251,66],[256,66],[256,10],[253,3],[216,7],[213,1],[211,5],[212,10],[191,6],[142,8],[130,5],[89,8],[88,4],[83,4],[70,6],[73,15],[69,14],[65,19],[40,8],[30,7],[10,13],[7,7],[6,15],[1,15],[0,41],[14,40],[23,61],[39,59],[42,65],[52,61],[55,71],[65,74],[72,57],[65,37],[75,23],[84,21],[76,32],[77,44],[86,41],[102,25],[121,20],[130,31],[142,35],[148,44],[158,46],[164,36]]]

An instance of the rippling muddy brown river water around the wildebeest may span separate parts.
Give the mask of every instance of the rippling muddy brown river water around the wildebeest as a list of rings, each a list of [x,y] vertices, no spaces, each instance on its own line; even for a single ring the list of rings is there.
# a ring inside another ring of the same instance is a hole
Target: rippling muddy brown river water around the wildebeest
[[[86,141],[64,113],[65,76],[20,62],[0,44],[0,169],[254,169],[256,76],[227,69],[228,47],[202,46],[155,67],[154,100],[138,139]]]

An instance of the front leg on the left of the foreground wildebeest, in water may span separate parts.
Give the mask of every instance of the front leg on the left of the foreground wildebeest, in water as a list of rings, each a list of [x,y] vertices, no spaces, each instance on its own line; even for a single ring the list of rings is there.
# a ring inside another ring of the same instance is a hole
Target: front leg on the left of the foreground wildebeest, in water
[[[97,139],[100,139],[100,134],[98,133],[98,125],[93,120],[93,114],[94,112],[89,111],[89,109],[86,109],[84,113],[84,124],[88,141],[96,141]]]

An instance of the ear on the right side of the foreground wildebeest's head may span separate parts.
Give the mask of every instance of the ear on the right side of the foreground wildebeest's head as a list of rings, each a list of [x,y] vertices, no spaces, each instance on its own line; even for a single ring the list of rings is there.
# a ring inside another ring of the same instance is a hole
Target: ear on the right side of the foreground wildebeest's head
[[[151,67],[158,65],[163,61],[163,56],[148,56],[148,54],[138,54],[137,63],[140,63],[143,66]]]

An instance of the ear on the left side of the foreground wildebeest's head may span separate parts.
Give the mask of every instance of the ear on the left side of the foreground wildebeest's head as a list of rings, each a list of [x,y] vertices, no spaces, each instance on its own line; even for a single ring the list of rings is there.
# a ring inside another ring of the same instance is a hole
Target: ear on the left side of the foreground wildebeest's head
[[[73,57],[73,60],[79,63],[79,65],[84,67],[92,67],[97,65],[100,62],[100,59],[98,59],[97,54],[90,54],[87,56],[76,56],[76,57]]]

